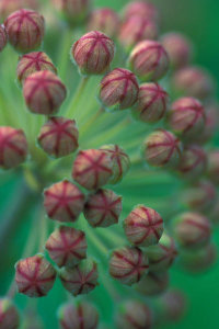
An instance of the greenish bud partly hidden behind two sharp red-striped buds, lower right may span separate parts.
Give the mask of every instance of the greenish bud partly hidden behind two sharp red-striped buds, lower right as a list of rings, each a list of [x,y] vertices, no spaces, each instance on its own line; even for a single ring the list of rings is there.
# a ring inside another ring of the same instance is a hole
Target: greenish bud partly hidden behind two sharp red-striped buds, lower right
[[[177,257],[177,249],[174,239],[163,234],[157,246],[147,248],[149,268],[152,272],[166,271]]]

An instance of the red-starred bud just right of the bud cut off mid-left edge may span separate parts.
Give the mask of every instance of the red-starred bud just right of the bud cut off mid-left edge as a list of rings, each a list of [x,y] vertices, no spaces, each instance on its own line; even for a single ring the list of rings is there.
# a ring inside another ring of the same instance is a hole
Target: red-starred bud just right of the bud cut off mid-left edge
[[[38,144],[49,156],[60,158],[77,150],[78,139],[74,120],[54,116],[41,128]]]

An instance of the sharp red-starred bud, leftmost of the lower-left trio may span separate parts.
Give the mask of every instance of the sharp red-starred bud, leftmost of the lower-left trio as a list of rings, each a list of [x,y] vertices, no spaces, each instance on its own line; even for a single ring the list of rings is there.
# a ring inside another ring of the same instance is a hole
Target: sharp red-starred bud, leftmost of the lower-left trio
[[[20,260],[15,265],[19,293],[28,297],[43,297],[53,288],[56,272],[43,254]]]

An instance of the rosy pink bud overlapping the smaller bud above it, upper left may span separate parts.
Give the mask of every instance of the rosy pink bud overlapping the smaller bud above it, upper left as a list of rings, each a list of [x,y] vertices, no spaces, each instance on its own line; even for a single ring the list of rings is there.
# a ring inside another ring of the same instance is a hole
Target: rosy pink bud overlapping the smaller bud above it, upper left
[[[66,99],[66,87],[51,71],[38,71],[24,81],[23,95],[28,110],[36,114],[55,114]]]

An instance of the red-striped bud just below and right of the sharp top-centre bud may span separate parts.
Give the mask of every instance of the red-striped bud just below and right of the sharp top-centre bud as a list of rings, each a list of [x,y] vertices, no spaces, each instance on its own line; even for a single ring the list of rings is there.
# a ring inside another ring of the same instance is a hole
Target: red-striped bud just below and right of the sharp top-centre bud
[[[139,87],[135,75],[126,69],[116,68],[101,81],[100,101],[110,110],[127,110],[138,99]]]

